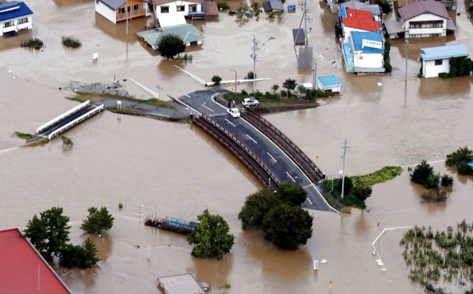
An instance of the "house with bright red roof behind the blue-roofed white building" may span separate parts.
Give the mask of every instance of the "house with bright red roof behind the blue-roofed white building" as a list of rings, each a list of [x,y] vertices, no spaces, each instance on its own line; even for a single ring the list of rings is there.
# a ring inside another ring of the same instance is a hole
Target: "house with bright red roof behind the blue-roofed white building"
[[[373,19],[371,11],[344,8],[342,11],[344,42],[348,43],[351,32],[379,32],[379,22]]]

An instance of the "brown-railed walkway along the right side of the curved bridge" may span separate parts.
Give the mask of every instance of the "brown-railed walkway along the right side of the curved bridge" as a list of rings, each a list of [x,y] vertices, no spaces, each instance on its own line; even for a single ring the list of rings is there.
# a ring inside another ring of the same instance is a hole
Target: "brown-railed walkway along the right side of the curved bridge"
[[[247,114],[246,114],[247,113]],[[299,148],[296,144],[294,144],[294,142],[292,142],[291,139],[289,139],[286,135],[284,135],[284,133],[282,133],[278,128],[276,128],[276,126],[274,126],[271,122],[269,122],[268,120],[266,120],[264,117],[262,117],[261,115],[259,115],[257,112],[255,112],[254,110],[251,110],[251,109],[247,109],[246,110],[246,113],[242,113],[243,117],[247,120],[250,120],[253,125],[255,125],[255,127],[258,127],[258,123],[257,121],[263,123],[267,128],[271,129],[274,133],[276,133],[277,136],[279,136],[279,138],[281,138],[282,140],[284,140],[290,147],[292,147],[293,150],[289,150],[288,148],[285,147],[284,144],[281,144],[279,142],[279,140],[277,140],[277,138],[275,138],[274,136],[271,135],[270,132],[268,132],[268,130],[265,130],[265,128],[258,128],[260,131],[262,131],[263,133],[265,133],[265,135],[267,135],[268,137],[270,137],[276,144],[278,147],[284,149],[284,151],[286,151],[286,153],[291,157],[292,160],[294,160],[296,163],[298,163],[298,165],[301,167],[301,169],[303,169],[306,174],[308,174],[309,177],[312,178],[313,181],[318,181],[320,179],[324,179],[325,178],[325,175],[322,173],[322,171],[320,171],[320,169],[315,165],[315,163],[312,161],[312,159],[310,159],[309,156],[306,155],[306,153],[304,153],[304,151],[301,150],[301,148]],[[257,121],[255,121],[257,120]],[[309,164],[310,167],[312,167],[313,170],[309,170],[306,168],[306,165],[305,164],[302,164],[299,159],[297,158],[297,156],[294,155],[293,151],[296,151],[303,159],[304,161]],[[319,179],[317,179],[316,177],[314,177],[313,175],[316,175],[319,177]]]

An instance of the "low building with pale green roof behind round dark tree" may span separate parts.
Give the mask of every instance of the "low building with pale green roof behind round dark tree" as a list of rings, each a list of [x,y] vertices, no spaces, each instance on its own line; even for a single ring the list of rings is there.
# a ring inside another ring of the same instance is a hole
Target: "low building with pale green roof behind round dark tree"
[[[158,50],[158,44],[161,38],[169,34],[181,37],[186,46],[202,44],[204,38],[202,33],[195,26],[190,24],[156,28],[139,32],[136,35],[148,43],[153,49]]]

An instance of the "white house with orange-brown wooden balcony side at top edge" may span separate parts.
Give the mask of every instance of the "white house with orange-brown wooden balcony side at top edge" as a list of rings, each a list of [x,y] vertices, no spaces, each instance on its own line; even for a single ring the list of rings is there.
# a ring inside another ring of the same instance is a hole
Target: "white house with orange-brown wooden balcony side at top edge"
[[[151,15],[148,0],[95,0],[95,11],[114,24]]]

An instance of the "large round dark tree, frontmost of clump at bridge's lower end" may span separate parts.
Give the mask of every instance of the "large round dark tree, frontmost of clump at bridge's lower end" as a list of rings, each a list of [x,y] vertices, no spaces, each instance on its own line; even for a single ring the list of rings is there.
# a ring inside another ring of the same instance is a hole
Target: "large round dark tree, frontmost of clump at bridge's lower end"
[[[265,238],[283,249],[297,249],[312,236],[313,218],[299,206],[280,204],[263,220]]]

